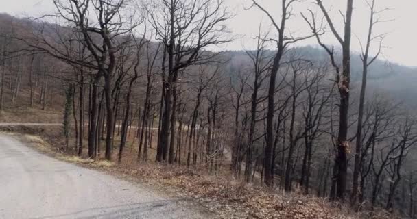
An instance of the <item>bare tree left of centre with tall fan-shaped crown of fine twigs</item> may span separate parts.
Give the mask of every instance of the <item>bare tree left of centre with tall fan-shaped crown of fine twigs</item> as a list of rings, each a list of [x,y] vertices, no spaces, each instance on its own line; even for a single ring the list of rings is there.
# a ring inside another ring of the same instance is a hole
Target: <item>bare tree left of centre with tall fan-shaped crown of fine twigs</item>
[[[204,52],[206,47],[228,42],[224,39],[224,21],[230,18],[224,1],[212,0],[160,0],[148,7],[150,23],[156,31],[156,40],[165,47],[163,59],[163,114],[156,160],[174,161],[174,148],[170,149],[169,136],[174,134],[171,118],[175,118],[175,98],[178,73],[193,64],[203,64],[213,57]],[[168,62],[168,63],[165,63]],[[167,64],[167,66],[166,66]],[[171,133],[170,133],[171,132]],[[169,160],[167,155],[169,152]]]

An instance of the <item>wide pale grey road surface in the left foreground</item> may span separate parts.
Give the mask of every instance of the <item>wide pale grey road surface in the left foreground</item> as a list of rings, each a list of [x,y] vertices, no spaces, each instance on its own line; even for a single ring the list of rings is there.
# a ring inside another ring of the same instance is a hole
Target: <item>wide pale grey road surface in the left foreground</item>
[[[0,218],[208,218],[181,200],[60,162],[0,134]]]

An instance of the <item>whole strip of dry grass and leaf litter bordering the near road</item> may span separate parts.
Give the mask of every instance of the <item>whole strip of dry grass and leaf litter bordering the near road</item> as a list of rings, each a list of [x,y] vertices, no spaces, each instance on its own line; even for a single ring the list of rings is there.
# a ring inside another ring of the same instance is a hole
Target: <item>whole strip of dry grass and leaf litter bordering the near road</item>
[[[247,185],[226,175],[208,175],[207,172],[163,164],[128,162],[116,165],[104,160],[81,159],[56,150],[38,136],[23,135],[23,140],[58,159],[133,177],[175,192],[178,196],[193,198],[193,201],[218,214],[219,218],[392,218],[382,211],[381,215],[371,217],[364,212],[350,211],[347,207],[332,206],[324,198],[302,196],[296,192],[285,194]]]

